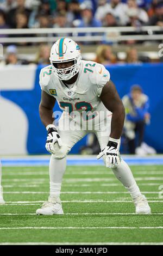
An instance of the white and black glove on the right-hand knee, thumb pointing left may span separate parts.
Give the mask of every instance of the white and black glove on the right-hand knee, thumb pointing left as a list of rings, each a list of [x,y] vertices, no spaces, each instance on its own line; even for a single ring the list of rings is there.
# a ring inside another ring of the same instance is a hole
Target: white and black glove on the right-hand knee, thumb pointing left
[[[120,139],[109,138],[108,145],[98,154],[97,159],[104,156],[106,167],[115,168],[121,162],[120,152],[118,150]]]

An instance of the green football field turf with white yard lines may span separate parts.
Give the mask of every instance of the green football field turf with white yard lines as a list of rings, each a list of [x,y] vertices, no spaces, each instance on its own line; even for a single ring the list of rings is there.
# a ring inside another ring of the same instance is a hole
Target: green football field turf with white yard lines
[[[132,166],[151,215],[135,215],[127,190],[104,166],[68,166],[64,215],[36,216],[47,200],[48,167],[3,167],[2,244],[163,244],[163,166]]]

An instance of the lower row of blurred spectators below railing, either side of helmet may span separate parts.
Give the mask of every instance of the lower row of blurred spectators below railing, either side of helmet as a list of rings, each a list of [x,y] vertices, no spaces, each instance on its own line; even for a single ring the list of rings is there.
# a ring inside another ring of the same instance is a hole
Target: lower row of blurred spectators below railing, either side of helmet
[[[16,45],[9,45],[4,54],[4,58],[0,61],[0,66],[3,65],[27,65],[27,64],[38,64],[38,65],[50,65],[49,56],[50,56],[51,46],[47,44],[41,44],[37,52],[29,60],[27,55],[29,54],[18,54],[18,47]],[[143,56],[140,52],[137,51],[136,47],[129,46],[126,52],[122,52],[124,57],[119,58],[118,54],[112,51],[112,46],[100,44],[96,47],[95,62],[101,63],[103,65],[114,65],[114,64],[141,64],[141,63],[150,63],[150,62],[163,62],[163,58],[160,59],[150,59],[147,56]],[[83,56],[83,59],[86,59]]]

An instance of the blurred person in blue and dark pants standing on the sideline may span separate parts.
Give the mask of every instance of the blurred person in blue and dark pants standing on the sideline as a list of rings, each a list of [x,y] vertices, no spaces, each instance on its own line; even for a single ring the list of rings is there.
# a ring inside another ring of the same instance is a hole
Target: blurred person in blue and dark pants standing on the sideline
[[[143,143],[145,125],[150,121],[149,100],[148,96],[143,94],[142,88],[134,85],[131,87],[130,93],[123,96],[122,102],[126,110],[124,135],[128,140],[129,153],[135,154],[136,148],[140,149]]]

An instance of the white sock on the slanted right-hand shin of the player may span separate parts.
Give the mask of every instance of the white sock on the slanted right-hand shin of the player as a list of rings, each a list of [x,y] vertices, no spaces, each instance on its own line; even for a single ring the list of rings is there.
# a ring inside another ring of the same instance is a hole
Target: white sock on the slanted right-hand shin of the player
[[[124,187],[127,188],[128,192],[130,193],[132,198],[141,195],[140,189],[136,184],[133,174],[126,162],[121,160],[120,165],[117,168],[112,169],[114,174],[116,175],[117,179],[122,182]]]

